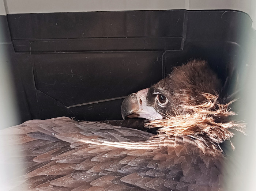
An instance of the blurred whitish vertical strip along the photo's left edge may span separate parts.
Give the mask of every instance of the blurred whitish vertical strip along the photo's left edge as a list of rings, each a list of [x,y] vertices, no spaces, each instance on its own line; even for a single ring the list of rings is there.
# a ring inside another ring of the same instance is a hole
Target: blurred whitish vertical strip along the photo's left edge
[[[10,71],[12,63],[7,52],[8,47],[12,47],[12,44],[3,42],[4,34],[3,31],[1,31],[3,29],[1,26],[2,25],[0,25],[0,129],[3,129],[17,125],[18,118],[13,93],[13,77]],[[18,186],[20,180],[22,180],[22,174],[19,170],[22,169],[19,164],[21,162],[18,161],[19,149],[15,146],[5,146],[6,141],[8,141],[8,137],[1,136],[0,134],[0,190],[10,190]],[[16,151],[14,152],[14,150]],[[13,154],[15,154],[15,156],[13,156]]]

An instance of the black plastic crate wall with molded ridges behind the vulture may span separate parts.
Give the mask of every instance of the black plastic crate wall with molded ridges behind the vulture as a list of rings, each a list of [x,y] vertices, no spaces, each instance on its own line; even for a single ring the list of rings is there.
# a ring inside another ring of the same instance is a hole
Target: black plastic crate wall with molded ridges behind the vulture
[[[254,32],[244,12],[109,11],[0,16],[21,121],[121,119],[125,96],[207,60],[223,84]]]

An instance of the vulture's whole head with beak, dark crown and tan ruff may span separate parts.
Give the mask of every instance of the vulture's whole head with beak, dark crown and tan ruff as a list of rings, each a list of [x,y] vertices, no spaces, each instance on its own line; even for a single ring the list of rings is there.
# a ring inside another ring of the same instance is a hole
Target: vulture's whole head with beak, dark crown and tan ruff
[[[129,95],[121,113],[124,119],[151,120],[146,127],[159,127],[159,133],[200,136],[219,144],[233,137],[231,129],[244,129],[230,120],[235,114],[229,108],[233,101],[220,103],[221,90],[221,80],[207,62],[192,60],[150,88]]]

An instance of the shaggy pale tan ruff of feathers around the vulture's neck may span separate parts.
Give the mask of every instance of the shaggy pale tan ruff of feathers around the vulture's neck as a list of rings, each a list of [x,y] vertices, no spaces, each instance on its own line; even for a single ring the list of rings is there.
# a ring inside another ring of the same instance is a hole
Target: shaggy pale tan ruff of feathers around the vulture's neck
[[[179,106],[182,108],[182,112],[173,108],[175,115],[166,114],[163,119],[149,121],[145,126],[148,128],[159,127],[159,134],[203,138],[212,144],[230,140],[234,136],[231,130],[245,134],[245,124],[230,119],[236,114],[229,108],[229,105],[235,100],[220,104],[217,93],[216,95],[202,93],[202,95],[206,98],[205,102],[195,106],[182,103]],[[231,147],[234,150],[232,143]]]

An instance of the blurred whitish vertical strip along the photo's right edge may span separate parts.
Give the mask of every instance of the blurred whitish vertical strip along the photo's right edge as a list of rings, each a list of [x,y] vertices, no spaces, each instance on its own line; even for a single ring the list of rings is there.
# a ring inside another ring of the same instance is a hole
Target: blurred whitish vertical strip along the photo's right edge
[[[255,0],[251,3],[256,5]],[[252,9],[254,30],[252,28],[245,50],[241,50],[245,52],[240,65],[240,71],[244,73],[239,75],[241,91],[238,98],[242,101],[238,100],[236,105],[239,119],[247,123],[247,136],[236,134],[233,140],[236,150],[228,153],[231,160],[226,167],[229,176],[226,176],[227,188],[224,189],[228,191],[252,191],[256,184],[256,6],[252,6]]]

